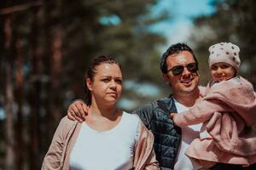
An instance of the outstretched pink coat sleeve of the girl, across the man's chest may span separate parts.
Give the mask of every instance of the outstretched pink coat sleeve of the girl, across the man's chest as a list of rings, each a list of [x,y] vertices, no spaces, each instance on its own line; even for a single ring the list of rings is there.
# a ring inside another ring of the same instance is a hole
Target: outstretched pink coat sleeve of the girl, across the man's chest
[[[202,99],[188,111],[175,114],[173,122],[179,127],[206,122],[215,111],[232,111],[230,107],[218,99]]]

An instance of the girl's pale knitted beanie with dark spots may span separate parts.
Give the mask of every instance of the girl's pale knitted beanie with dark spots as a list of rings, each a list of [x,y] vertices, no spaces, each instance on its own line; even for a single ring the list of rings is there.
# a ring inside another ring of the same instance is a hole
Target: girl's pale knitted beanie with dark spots
[[[209,66],[224,62],[232,65],[238,72],[241,60],[239,58],[240,48],[231,42],[220,42],[209,48]]]

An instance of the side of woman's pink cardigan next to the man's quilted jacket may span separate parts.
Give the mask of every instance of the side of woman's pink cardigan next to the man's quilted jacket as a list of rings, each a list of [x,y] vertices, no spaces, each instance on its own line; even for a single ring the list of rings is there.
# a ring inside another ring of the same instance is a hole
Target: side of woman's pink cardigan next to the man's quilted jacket
[[[144,126],[143,122],[140,123],[140,129],[134,156],[135,170],[158,170],[160,167],[158,161],[156,161],[153,148],[154,136]]]

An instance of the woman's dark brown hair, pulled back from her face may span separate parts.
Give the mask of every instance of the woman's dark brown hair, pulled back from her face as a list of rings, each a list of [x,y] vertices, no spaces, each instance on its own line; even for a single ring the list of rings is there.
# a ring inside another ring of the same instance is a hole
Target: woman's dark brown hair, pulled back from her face
[[[84,78],[84,92],[85,92],[85,104],[91,105],[91,93],[89,88],[87,87],[86,78],[90,78],[91,81],[93,81],[97,66],[102,64],[116,64],[119,65],[119,68],[121,69],[121,65],[119,62],[111,57],[101,55],[99,57],[96,57],[89,65],[88,69],[85,72],[85,78]]]

